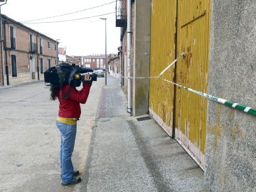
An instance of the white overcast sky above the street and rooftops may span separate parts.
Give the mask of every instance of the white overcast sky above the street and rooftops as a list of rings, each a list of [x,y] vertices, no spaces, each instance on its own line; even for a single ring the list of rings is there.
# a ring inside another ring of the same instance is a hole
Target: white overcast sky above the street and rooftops
[[[105,21],[100,18],[107,18],[107,53],[118,51],[115,0],[8,0],[1,14],[59,39],[68,55],[105,54]]]

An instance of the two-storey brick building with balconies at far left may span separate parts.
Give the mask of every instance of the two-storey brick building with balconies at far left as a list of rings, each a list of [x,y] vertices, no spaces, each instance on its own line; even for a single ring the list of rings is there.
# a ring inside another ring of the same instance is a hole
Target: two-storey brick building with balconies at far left
[[[57,64],[58,41],[2,15],[1,85],[43,80],[43,71]]]

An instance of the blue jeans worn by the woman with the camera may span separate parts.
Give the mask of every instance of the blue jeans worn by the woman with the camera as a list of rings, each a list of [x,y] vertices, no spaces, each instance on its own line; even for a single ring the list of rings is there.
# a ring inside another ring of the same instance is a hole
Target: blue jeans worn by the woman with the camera
[[[62,182],[68,183],[73,180],[73,164],[71,156],[75,146],[76,124],[63,124],[56,122],[61,133],[60,142],[60,169]]]

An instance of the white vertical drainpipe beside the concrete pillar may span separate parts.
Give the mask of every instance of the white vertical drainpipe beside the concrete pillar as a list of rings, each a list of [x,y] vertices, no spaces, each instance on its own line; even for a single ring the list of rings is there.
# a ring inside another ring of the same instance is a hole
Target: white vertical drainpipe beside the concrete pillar
[[[132,112],[132,80],[131,80],[131,0],[127,0],[127,72],[128,72],[128,109],[127,112]]]

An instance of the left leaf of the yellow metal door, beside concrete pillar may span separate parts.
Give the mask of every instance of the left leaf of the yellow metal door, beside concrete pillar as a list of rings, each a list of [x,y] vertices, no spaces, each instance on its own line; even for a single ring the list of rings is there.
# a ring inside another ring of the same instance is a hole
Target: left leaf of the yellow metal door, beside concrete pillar
[[[176,1],[151,1],[150,76],[155,77],[175,59],[176,52]],[[163,78],[174,80],[174,68]],[[174,85],[151,78],[149,113],[172,135],[174,118]]]

